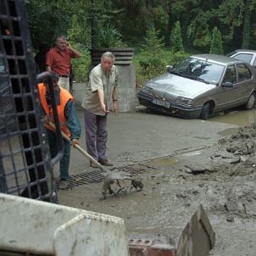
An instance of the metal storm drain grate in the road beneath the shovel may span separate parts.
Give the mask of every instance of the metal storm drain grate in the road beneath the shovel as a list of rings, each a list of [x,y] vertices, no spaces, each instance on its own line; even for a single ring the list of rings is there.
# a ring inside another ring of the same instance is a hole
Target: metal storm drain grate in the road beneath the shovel
[[[133,166],[125,166],[120,168],[115,168],[113,171],[124,171],[129,173],[132,176],[136,176],[142,173],[147,172],[147,170],[143,168],[135,168]],[[99,183],[102,182],[104,178],[102,170],[93,170],[86,173],[81,173],[78,175],[71,175],[68,179],[69,186],[65,189],[58,188],[59,180],[55,181],[56,187],[59,190],[70,190],[75,186],[87,185],[90,183]]]

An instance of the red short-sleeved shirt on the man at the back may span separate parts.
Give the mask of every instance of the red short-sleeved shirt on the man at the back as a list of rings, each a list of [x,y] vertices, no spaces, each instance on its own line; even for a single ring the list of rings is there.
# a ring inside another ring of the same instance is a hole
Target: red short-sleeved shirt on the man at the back
[[[57,75],[70,75],[71,58],[75,58],[75,55],[70,49],[59,51],[54,47],[47,53],[46,64]]]

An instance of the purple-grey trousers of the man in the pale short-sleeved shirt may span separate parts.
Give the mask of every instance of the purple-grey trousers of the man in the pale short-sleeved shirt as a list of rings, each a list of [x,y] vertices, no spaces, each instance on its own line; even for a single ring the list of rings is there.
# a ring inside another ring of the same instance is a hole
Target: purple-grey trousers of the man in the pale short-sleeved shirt
[[[99,160],[107,159],[106,143],[108,138],[107,114],[92,114],[85,109],[86,149],[92,158]]]

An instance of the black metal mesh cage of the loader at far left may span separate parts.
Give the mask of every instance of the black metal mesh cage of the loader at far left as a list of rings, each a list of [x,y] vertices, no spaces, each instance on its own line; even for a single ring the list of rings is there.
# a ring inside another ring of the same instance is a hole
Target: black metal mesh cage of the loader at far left
[[[55,201],[23,1],[0,1],[0,192]]]

